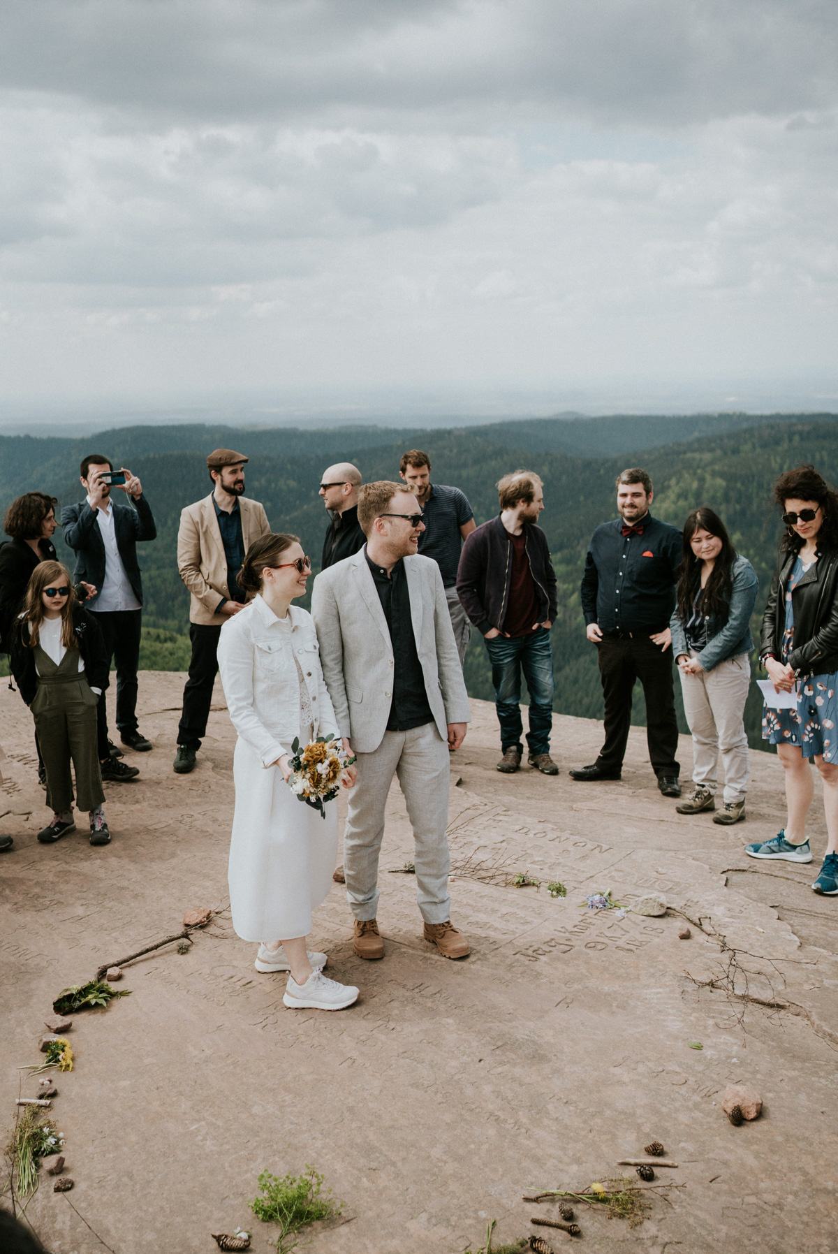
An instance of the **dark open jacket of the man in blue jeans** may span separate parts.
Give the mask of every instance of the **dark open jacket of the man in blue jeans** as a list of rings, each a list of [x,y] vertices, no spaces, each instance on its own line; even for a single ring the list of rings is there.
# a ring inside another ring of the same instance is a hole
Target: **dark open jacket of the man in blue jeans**
[[[559,601],[547,537],[535,523],[524,523],[524,534],[539,598],[539,622],[554,622]],[[457,568],[457,596],[484,636],[492,627],[501,630],[511,581],[512,540],[499,514],[466,537]]]

